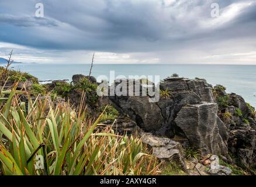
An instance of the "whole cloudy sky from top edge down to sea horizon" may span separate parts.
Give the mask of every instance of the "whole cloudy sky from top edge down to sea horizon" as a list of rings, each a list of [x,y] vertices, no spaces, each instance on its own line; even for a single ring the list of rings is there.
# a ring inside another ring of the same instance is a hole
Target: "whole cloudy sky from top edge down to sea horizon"
[[[0,57],[11,49],[27,63],[95,51],[95,63],[256,64],[256,0],[1,0]]]

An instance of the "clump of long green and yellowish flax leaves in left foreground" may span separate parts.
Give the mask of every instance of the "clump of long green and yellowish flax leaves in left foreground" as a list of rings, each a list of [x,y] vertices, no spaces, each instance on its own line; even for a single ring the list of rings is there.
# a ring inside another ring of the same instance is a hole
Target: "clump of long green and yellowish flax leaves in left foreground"
[[[0,112],[0,171],[4,175],[155,175],[158,161],[139,138],[98,131],[87,111],[68,106],[28,106],[15,88]],[[37,168],[41,155],[43,169]]]

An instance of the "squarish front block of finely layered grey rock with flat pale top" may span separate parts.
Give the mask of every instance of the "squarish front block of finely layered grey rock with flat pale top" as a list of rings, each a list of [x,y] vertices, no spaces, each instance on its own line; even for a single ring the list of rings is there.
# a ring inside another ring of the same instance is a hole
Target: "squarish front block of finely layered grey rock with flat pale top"
[[[227,130],[217,117],[217,110],[216,103],[186,105],[175,119],[175,123],[184,131],[189,143],[200,149],[203,154],[227,155],[227,146],[223,141],[223,138],[227,141]],[[221,131],[219,126],[222,127]]]

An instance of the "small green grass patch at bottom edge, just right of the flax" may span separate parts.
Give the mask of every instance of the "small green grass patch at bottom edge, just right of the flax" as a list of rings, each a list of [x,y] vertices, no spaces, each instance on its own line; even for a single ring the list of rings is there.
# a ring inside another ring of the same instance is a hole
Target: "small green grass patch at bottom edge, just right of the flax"
[[[161,171],[161,175],[187,175],[182,168],[173,161],[162,164]]]

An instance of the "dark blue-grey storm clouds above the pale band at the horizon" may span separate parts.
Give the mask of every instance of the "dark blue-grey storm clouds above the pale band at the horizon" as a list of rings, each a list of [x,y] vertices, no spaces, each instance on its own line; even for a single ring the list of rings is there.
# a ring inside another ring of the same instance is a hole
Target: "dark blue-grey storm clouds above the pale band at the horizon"
[[[254,50],[245,41],[255,40],[255,0],[44,0],[44,18],[34,16],[37,2],[0,2],[0,41],[113,53],[202,54],[222,46],[223,53],[231,53],[227,48],[237,44]],[[212,3],[219,4],[220,18],[211,18]]]

